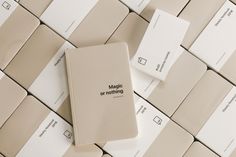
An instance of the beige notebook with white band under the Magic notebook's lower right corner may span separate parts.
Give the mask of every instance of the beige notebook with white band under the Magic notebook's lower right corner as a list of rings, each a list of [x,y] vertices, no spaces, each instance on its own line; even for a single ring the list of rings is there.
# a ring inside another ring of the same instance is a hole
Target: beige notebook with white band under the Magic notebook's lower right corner
[[[182,157],[193,136],[144,99],[136,100],[138,136],[101,147],[115,157]]]

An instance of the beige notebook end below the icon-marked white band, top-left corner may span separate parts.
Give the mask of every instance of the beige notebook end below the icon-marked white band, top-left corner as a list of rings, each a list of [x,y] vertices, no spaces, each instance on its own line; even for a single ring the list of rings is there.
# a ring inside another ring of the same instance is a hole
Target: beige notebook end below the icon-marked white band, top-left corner
[[[0,69],[5,69],[38,27],[39,20],[18,6],[0,27]]]

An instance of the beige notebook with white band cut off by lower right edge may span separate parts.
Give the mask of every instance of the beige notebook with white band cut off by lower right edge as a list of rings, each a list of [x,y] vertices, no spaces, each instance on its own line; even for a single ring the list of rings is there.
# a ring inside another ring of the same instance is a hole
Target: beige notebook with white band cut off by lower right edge
[[[230,156],[236,149],[235,111],[236,87],[208,71],[172,119],[220,156]]]

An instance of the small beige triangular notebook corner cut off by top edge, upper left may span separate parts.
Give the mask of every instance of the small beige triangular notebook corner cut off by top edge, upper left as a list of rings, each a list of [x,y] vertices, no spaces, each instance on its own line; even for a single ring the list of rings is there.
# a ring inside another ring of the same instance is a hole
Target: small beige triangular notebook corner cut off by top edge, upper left
[[[40,17],[53,0],[20,0],[20,4]]]

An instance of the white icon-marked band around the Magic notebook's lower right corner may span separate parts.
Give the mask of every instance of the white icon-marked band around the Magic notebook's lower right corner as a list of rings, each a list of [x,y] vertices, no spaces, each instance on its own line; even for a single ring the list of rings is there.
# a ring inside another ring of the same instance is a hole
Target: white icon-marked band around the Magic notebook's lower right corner
[[[169,118],[140,98],[135,104],[138,136],[108,142],[104,150],[115,157],[142,157],[169,122]]]

